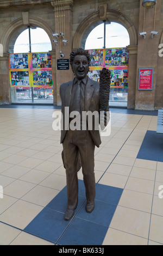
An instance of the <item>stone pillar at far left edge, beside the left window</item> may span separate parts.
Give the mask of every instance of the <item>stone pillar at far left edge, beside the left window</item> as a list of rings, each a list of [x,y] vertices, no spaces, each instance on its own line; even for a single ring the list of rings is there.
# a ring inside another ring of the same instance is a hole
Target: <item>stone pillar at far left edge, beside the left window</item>
[[[9,53],[4,52],[0,57],[0,105],[10,103]]]

